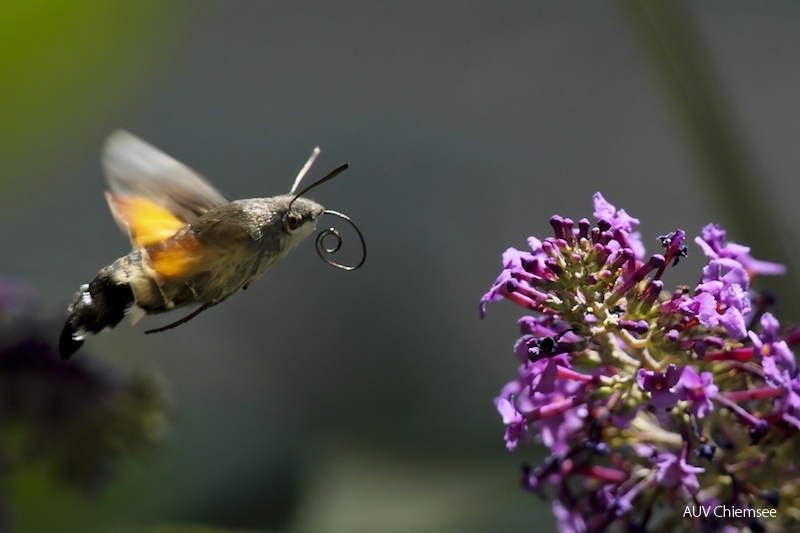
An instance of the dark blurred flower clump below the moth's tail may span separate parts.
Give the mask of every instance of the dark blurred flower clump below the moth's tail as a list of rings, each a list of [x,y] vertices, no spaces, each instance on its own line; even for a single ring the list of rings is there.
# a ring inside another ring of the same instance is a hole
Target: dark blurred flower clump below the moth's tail
[[[91,497],[121,461],[159,448],[170,401],[151,373],[88,353],[63,361],[53,324],[37,308],[29,287],[0,279],[0,476],[43,464],[65,488]],[[13,524],[12,511],[0,508]]]

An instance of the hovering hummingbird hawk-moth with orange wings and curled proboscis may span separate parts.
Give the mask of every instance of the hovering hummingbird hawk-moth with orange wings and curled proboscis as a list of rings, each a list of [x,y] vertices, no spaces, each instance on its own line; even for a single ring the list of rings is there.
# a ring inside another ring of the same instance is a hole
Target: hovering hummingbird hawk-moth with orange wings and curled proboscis
[[[363,255],[355,266],[323,259],[345,270],[360,267],[366,247],[358,228],[347,216],[302,197],[347,164],[295,192],[318,153],[316,149],[289,194],[229,201],[199,174],[138,137],[113,133],[102,157],[106,200],[133,250],[78,289],[61,331],[61,356],[69,358],[87,336],[115,327],[126,316],[135,324],[144,315],[199,305],[177,322],[146,333],[190,320],[246,289],[311,235],[324,213],[353,225]],[[329,235],[336,239],[333,247],[322,242]],[[333,253],[341,243],[341,235],[331,228],[318,235],[317,251],[320,256]]]

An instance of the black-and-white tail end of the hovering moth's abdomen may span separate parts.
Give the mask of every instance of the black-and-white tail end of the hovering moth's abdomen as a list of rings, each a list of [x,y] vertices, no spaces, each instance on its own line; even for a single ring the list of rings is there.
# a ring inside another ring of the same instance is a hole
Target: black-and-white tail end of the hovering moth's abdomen
[[[67,359],[75,353],[86,336],[113,328],[125,317],[134,303],[127,275],[130,263],[130,256],[118,259],[103,268],[91,283],[81,285],[75,293],[58,341],[62,358]]]

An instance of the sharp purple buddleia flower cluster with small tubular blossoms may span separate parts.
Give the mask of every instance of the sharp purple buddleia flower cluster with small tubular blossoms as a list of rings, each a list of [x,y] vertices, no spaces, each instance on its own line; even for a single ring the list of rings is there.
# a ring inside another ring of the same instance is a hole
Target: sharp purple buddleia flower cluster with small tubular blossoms
[[[800,336],[782,336],[750,288],[783,267],[712,224],[695,239],[708,257],[699,283],[669,293],[662,275],[687,254],[684,232],[647,257],[637,219],[600,193],[594,216],[554,216],[554,237],[506,250],[480,301],[481,316],[502,299],[531,313],[517,377],[495,399],[509,450],[536,438],[550,451],[525,485],[554,489],[563,531],[759,530],[764,509],[777,516],[768,527],[800,527]]]

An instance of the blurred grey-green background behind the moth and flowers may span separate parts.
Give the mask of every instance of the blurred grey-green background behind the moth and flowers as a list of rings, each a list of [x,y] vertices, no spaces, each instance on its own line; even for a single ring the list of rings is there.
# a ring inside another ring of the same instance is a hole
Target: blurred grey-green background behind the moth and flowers
[[[180,328],[143,333],[178,312],[87,343],[77,357],[157,370],[174,426],[94,500],[31,489],[20,530],[39,515],[76,531],[553,527],[519,487],[541,452],[507,452],[492,404],[522,314],[505,302],[478,319],[501,253],[549,235],[552,214],[590,217],[601,191],[651,253],[659,234],[720,221],[757,257],[796,261],[800,5],[673,6],[729,120],[726,153],[764,195],[736,205],[693,134],[714,117],[682,111],[636,6],[3,3],[0,275],[37,288],[54,336],[77,287],[129,250],[99,165],[117,128],[230,198],[287,192],[319,145],[313,177],[351,168],[311,196],[369,247],[345,273],[306,243]],[[757,219],[772,225],[745,235]],[[668,286],[699,278],[691,248]],[[769,281],[796,320],[791,277]]]

